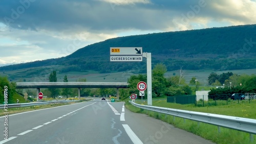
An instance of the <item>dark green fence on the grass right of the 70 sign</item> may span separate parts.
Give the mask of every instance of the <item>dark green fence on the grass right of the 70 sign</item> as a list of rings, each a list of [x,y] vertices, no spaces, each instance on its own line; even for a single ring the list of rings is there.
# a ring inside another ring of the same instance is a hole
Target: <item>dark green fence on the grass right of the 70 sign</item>
[[[196,95],[177,95],[167,97],[167,103],[196,104]]]

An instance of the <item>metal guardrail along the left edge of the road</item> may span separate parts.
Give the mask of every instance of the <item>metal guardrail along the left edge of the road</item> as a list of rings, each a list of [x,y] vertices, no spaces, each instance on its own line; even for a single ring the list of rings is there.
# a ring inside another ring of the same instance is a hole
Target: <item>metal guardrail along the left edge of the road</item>
[[[31,103],[20,103],[20,104],[8,104],[7,108],[17,108],[17,107],[28,107],[28,106],[37,106],[37,105],[47,105],[47,104],[55,104],[55,103],[69,103],[76,102],[80,100],[69,100],[69,101],[51,101],[51,102],[31,102]],[[0,105],[0,109],[4,109],[5,105]]]

